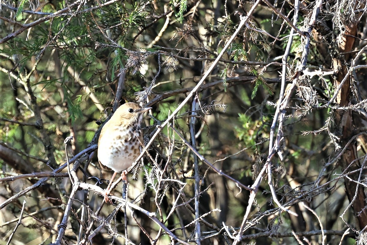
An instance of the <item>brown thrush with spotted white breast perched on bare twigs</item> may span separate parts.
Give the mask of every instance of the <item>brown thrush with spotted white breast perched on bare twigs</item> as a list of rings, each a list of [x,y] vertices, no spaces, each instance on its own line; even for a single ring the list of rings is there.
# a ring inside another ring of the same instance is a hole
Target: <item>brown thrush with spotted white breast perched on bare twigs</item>
[[[110,202],[108,195],[117,173],[122,172],[122,179],[127,182],[127,169],[141,153],[143,113],[150,109],[152,107],[142,108],[134,102],[127,102],[117,108],[110,120],[102,127],[98,138],[98,161],[114,171],[104,193],[105,202]]]

